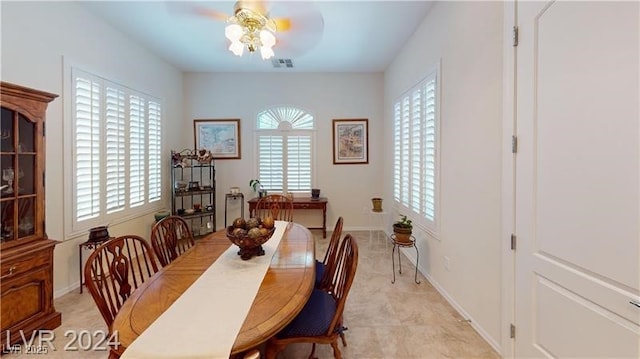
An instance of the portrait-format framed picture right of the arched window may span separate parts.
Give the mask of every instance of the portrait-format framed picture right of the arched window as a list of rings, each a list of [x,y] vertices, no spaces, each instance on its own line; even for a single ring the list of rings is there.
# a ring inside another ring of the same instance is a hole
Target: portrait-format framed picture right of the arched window
[[[333,120],[333,164],[369,163],[369,121]]]

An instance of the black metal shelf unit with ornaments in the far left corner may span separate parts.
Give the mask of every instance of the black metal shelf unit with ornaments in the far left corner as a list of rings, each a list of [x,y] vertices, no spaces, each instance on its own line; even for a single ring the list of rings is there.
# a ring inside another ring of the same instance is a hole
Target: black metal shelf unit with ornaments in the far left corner
[[[215,166],[197,151],[171,151],[171,213],[182,217],[194,237],[216,230]]]

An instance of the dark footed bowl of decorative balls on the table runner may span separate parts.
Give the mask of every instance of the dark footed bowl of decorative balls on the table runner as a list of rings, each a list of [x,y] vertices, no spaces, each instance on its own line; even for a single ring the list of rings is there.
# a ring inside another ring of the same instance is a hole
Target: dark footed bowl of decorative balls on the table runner
[[[236,218],[233,225],[227,227],[227,238],[231,243],[240,248],[238,255],[242,260],[264,255],[262,245],[266,243],[275,232],[273,220],[249,218]]]

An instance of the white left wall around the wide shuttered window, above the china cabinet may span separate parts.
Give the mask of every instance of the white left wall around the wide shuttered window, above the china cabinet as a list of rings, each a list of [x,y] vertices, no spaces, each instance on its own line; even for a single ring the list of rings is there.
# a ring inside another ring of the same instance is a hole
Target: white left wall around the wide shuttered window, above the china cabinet
[[[63,57],[65,63],[72,61],[85,70],[163,99],[166,134],[183,131],[176,123],[182,116],[182,74],[78,3],[3,1],[1,12],[2,81],[60,95],[47,110],[45,184],[47,234],[63,241],[54,251],[54,291],[58,296],[78,285],[78,244],[86,240],[64,238],[63,121],[69,114],[64,113],[63,106],[68,100],[63,88]],[[172,136],[166,140],[164,152],[168,158],[168,148],[177,141]],[[109,232],[148,238],[152,222],[153,216],[148,214],[112,225]]]

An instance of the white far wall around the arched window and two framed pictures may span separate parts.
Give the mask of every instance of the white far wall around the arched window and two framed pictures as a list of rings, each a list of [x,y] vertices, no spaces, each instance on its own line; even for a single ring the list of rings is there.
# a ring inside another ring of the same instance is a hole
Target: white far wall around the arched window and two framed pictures
[[[291,105],[311,112],[316,121],[316,176],[314,186],[329,199],[327,227],[338,216],[345,230],[368,226],[363,207],[371,208],[371,198],[382,194],[383,158],[383,77],[381,73],[188,73],[185,75],[185,116],[182,119],[182,146],[193,147],[194,119],[239,118],[242,158],[217,160],[217,227],[224,226],[224,193],[238,186],[248,200],[255,196],[249,180],[257,178],[254,143],[258,112],[276,105]],[[369,164],[334,165],[332,119],[369,120]],[[232,204],[230,203],[230,206]],[[231,207],[230,207],[231,208]],[[236,208],[233,213],[239,213]],[[248,208],[245,206],[248,214]],[[231,213],[231,209],[230,209]],[[313,216],[296,213],[296,221],[318,225]],[[229,219],[229,222],[233,218]]]

